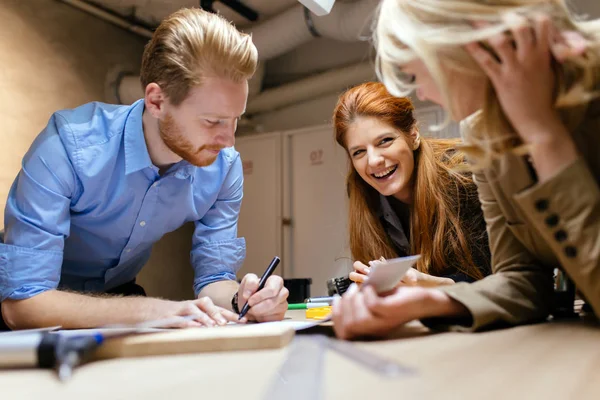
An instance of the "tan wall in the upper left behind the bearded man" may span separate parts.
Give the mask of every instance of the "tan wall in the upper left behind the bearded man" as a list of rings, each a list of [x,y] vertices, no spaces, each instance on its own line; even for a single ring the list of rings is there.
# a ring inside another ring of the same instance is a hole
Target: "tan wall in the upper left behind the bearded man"
[[[2,0],[0,21],[4,210],[21,158],[52,112],[102,100],[106,71],[117,63],[138,68],[144,40],[53,0]]]

